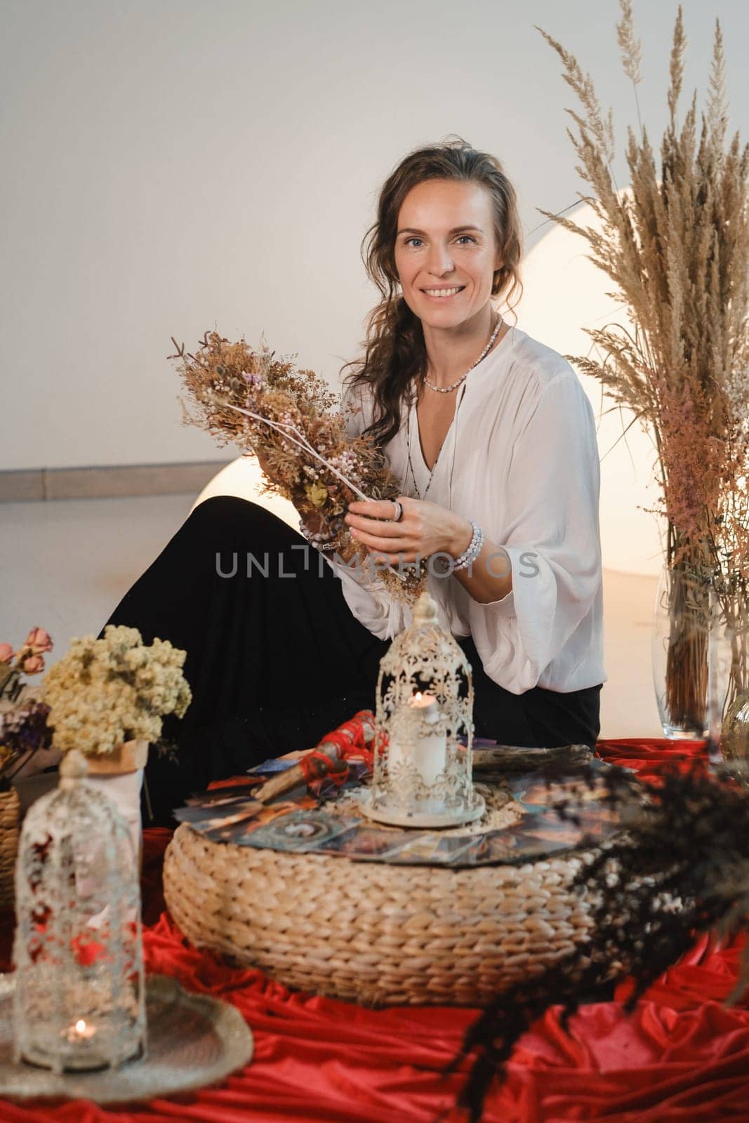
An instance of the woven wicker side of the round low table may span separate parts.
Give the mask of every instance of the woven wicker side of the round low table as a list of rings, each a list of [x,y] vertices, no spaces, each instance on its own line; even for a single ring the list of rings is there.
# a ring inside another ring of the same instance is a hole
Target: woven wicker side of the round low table
[[[586,940],[584,853],[445,869],[211,842],[186,823],[164,895],[200,948],[367,1005],[477,1006]]]

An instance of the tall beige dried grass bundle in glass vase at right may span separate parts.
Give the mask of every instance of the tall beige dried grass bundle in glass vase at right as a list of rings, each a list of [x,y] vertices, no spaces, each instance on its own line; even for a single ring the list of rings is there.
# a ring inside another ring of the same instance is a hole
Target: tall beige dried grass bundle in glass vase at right
[[[637,100],[640,44],[631,0],[620,0],[620,7],[618,38]],[[660,166],[646,128],[640,125],[638,137],[630,127],[631,186],[618,191],[611,110],[604,117],[590,75],[538,30],[561,58],[565,81],[583,107],[582,115],[567,110],[577,135],[567,133],[579,158],[577,172],[593,189],[579,198],[601,230],[541,213],[587,240],[590,259],[614,282],[611,295],[634,326],[585,329],[603,358],[567,357],[652,437],[661,491],[656,513],[665,518],[665,564],[672,572],[667,706],[676,724],[698,728],[706,711],[715,597],[732,638],[724,705],[749,688],[749,146],[741,146],[738,133],[727,144],[718,22],[706,115],[697,128],[695,93],[678,128],[686,48],[679,7]]]

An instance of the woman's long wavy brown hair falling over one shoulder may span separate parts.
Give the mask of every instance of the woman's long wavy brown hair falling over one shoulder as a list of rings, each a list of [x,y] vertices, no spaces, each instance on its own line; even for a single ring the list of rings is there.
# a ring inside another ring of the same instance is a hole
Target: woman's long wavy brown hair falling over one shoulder
[[[455,136],[455,135],[454,135]],[[424,180],[459,180],[478,183],[492,199],[494,236],[502,253],[502,266],[494,272],[492,296],[504,295],[512,311],[522,295],[520,258],[522,232],[515,191],[495,156],[476,152],[462,137],[415,148],[385,180],[377,202],[377,218],[362,241],[362,257],[368,276],[382,293],[382,301],[367,318],[364,356],[346,363],[353,372],[345,389],[371,387],[373,421],[365,430],[382,448],[401,428],[401,404],[410,407],[427,373],[427,348],[421,320],[402,295],[395,268],[398,216],[409,191]],[[517,299],[512,302],[512,298]]]

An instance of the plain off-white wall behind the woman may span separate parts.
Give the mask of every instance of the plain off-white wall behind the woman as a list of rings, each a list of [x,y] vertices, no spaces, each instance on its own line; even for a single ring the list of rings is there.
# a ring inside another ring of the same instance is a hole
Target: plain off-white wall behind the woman
[[[657,136],[676,4],[636,8]],[[718,15],[746,135],[745,3],[684,9],[685,101]],[[418,144],[458,133],[497,154],[532,246],[536,208],[581,186],[574,98],[533,25],[592,72],[621,139],[618,18],[614,0],[4,0],[0,468],[231,455],[181,426],[172,335],[264,330],[337,384],[375,300],[362,236]],[[564,349],[552,318],[545,341]]]

